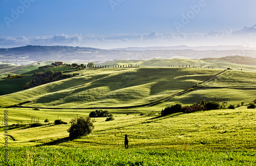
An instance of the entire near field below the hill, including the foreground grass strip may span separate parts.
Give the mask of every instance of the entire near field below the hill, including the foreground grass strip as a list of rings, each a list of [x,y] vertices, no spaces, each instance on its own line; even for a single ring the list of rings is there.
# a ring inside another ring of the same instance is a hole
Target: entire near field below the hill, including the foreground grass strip
[[[52,123],[57,117],[69,122],[77,114],[86,117],[91,112],[24,108],[2,110],[8,110],[9,120],[15,124],[30,123],[31,117],[39,118],[39,122],[48,118]],[[70,124],[9,129],[9,164],[253,165],[256,162],[255,109],[239,107],[165,117],[159,116],[160,110],[154,109],[154,106],[151,114],[144,116],[139,116],[132,109],[129,115],[122,111],[110,111],[114,114],[114,121],[95,118],[93,132],[77,139],[68,137]],[[129,136],[129,150],[123,146],[124,134]],[[1,142],[4,142],[3,139]]]

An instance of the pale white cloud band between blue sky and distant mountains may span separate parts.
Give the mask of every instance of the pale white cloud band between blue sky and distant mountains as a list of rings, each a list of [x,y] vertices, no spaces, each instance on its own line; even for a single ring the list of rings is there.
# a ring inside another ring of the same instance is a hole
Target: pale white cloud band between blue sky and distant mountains
[[[256,47],[256,24],[253,26],[245,26],[241,30],[212,31],[201,34],[160,34],[152,32],[150,34],[60,34],[36,37],[0,37],[0,47],[10,48],[25,45],[67,45],[102,49],[174,45],[242,45],[245,47]]]

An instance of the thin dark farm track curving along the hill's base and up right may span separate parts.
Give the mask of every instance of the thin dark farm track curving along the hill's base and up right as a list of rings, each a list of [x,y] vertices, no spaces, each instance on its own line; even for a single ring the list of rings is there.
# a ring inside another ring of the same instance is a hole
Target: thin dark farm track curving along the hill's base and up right
[[[217,77],[218,75],[224,73],[225,71],[227,70],[223,70],[222,72],[208,78],[207,80],[203,81],[200,83],[203,84],[205,82],[208,82],[212,79],[214,79],[215,77]],[[195,89],[197,89],[198,87],[195,87]],[[161,99],[161,100],[158,100],[158,101],[154,101],[154,102],[151,102],[151,103],[146,103],[146,104],[141,104],[141,105],[133,105],[133,106],[119,106],[119,107],[83,107],[83,108],[56,108],[56,107],[33,107],[33,106],[19,106],[19,107],[22,107],[22,108],[40,108],[40,109],[129,109],[129,108],[139,108],[139,107],[145,107],[145,106],[153,106],[153,105],[157,105],[157,104],[160,104],[160,102],[162,101],[167,101],[175,96],[179,96],[179,95],[182,95],[186,92],[189,92],[189,90],[185,90],[185,91],[182,91],[182,92],[179,92],[179,93],[176,93],[172,96],[169,96],[169,97],[166,97],[164,99]],[[14,106],[10,106],[10,107],[14,107]]]

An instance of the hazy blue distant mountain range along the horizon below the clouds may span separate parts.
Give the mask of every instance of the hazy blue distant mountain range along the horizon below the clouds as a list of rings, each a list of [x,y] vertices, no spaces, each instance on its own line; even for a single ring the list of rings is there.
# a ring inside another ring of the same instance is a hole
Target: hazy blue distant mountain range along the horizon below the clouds
[[[68,61],[68,62],[108,62],[114,60],[150,59],[202,59],[226,56],[256,57],[256,50],[244,50],[242,46],[202,46],[188,47],[131,47],[119,49],[98,49],[72,46],[32,46],[0,48],[0,62],[15,61]]]

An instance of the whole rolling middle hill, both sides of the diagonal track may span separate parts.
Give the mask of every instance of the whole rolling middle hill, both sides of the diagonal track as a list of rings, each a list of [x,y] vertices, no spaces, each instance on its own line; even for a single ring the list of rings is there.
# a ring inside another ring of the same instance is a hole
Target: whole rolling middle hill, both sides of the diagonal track
[[[0,103],[11,106],[32,101],[23,106],[55,108],[140,105],[185,91],[221,71],[174,67],[92,68],[76,71],[79,76],[1,96]],[[191,104],[218,98],[231,103],[250,102],[255,94],[255,79],[254,72],[226,71],[202,84],[200,89],[169,101]]]

